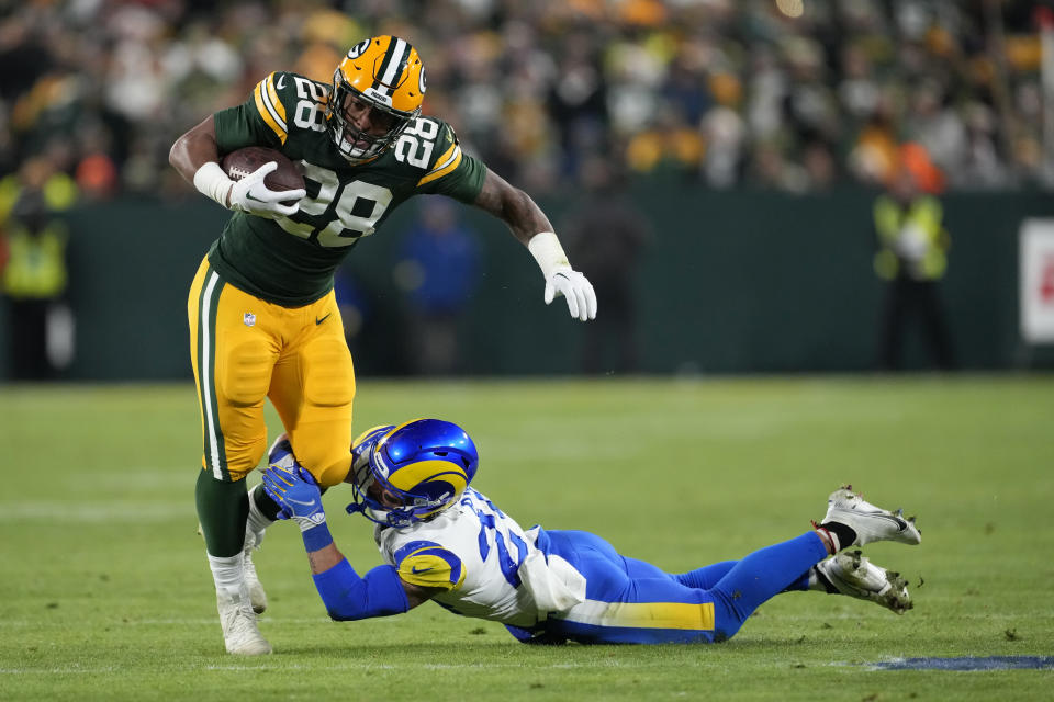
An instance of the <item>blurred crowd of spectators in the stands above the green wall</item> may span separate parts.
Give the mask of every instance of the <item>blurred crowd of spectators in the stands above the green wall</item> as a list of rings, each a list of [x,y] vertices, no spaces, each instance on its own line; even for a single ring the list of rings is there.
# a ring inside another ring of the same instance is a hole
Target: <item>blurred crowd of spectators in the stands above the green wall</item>
[[[905,143],[933,190],[1044,185],[1038,4],[22,0],[0,19],[0,177],[186,196],[178,135],[269,71],[328,82],[386,33],[418,48],[426,112],[535,194],[596,158],[700,188],[881,183]]]

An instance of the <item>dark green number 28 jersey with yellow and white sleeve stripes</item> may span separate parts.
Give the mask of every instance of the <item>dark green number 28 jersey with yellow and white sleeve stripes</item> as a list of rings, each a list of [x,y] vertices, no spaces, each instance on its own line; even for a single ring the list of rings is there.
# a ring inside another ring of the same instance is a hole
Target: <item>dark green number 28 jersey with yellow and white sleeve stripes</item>
[[[221,154],[270,147],[304,176],[307,194],[296,214],[268,219],[236,212],[209,249],[209,262],[226,281],[288,307],[328,293],[351,248],[408,197],[442,194],[470,203],[486,173],[482,162],[461,152],[450,125],[428,116],[380,157],[351,165],[326,131],[328,99],[325,83],[274,72],[245,103],[214,116]]]

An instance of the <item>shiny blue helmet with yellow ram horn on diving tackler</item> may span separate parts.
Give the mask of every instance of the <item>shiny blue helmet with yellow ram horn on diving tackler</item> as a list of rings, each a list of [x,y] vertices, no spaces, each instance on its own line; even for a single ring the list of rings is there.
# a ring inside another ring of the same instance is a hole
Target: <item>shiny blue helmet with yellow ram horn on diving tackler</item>
[[[348,513],[386,526],[427,521],[457,502],[480,464],[469,434],[441,419],[374,427],[351,453]]]

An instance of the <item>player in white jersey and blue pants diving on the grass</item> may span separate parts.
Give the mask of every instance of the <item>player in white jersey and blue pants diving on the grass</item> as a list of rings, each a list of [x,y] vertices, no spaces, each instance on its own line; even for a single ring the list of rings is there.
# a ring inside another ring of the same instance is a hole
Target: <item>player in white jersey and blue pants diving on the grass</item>
[[[781,592],[849,595],[902,613],[907,584],[857,546],[921,542],[913,519],[864,501],[851,487],[828,499],[805,533],[740,561],[668,574],[584,531],[524,530],[471,487],[479,466],[457,424],[418,419],[359,437],[347,482],[349,512],[375,522],[384,565],[359,576],[326,526],[311,473],[279,440],[264,486],[300,526],[315,587],[334,620],[397,614],[435,600],[497,621],[531,643],[713,643],[733,636]]]

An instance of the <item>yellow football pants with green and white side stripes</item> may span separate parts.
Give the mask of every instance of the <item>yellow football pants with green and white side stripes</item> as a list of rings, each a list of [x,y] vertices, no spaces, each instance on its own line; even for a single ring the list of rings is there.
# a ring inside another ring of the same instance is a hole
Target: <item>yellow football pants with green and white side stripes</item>
[[[267,450],[270,398],[293,453],[323,487],[351,466],[355,369],[333,292],[303,307],[264,302],[202,261],[187,299],[204,438],[202,468],[240,480]]]

